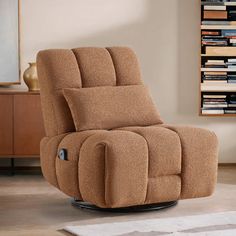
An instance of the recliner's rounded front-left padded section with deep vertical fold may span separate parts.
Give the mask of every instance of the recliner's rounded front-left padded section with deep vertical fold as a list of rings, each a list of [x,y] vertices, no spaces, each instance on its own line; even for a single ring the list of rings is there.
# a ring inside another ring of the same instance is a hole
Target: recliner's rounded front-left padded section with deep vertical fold
[[[148,147],[129,131],[103,131],[80,150],[79,186],[83,200],[100,207],[144,204],[148,183]]]

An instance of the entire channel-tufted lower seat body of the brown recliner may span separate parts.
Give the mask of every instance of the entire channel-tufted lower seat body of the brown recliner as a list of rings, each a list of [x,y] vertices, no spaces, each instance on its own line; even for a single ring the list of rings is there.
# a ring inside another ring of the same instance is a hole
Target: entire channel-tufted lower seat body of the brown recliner
[[[214,133],[186,126],[88,130],[44,138],[41,164],[64,193],[100,207],[124,207],[209,196],[217,146]],[[61,149],[67,160],[56,157]]]

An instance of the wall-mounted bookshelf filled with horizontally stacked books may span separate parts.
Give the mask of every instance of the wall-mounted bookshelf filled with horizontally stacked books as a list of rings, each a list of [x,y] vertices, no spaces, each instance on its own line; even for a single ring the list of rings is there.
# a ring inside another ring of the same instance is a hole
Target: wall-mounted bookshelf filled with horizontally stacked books
[[[201,0],[199,115],[236,117],[236,2]]]

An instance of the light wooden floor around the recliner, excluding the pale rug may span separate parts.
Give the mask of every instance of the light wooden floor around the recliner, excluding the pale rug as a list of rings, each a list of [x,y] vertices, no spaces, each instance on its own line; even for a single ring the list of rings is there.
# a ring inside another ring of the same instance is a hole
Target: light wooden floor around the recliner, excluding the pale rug
[[[159,212],[115,214],[74,208],[70,199],[40,175],[0,176],[1,236],[62,236],[65,225],[131,221],[236,211],[236,167],[221,167],[214,196],[179,201]]]

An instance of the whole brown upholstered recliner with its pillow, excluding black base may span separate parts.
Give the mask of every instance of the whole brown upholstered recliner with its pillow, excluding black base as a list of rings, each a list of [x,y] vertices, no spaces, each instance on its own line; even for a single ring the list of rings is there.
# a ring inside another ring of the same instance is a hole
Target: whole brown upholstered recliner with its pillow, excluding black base
[[[212,194],[215,134],[163,124],[131,49],[45,50],[37,69],[47,135],[41,166],[49,183],[105,209]]]

